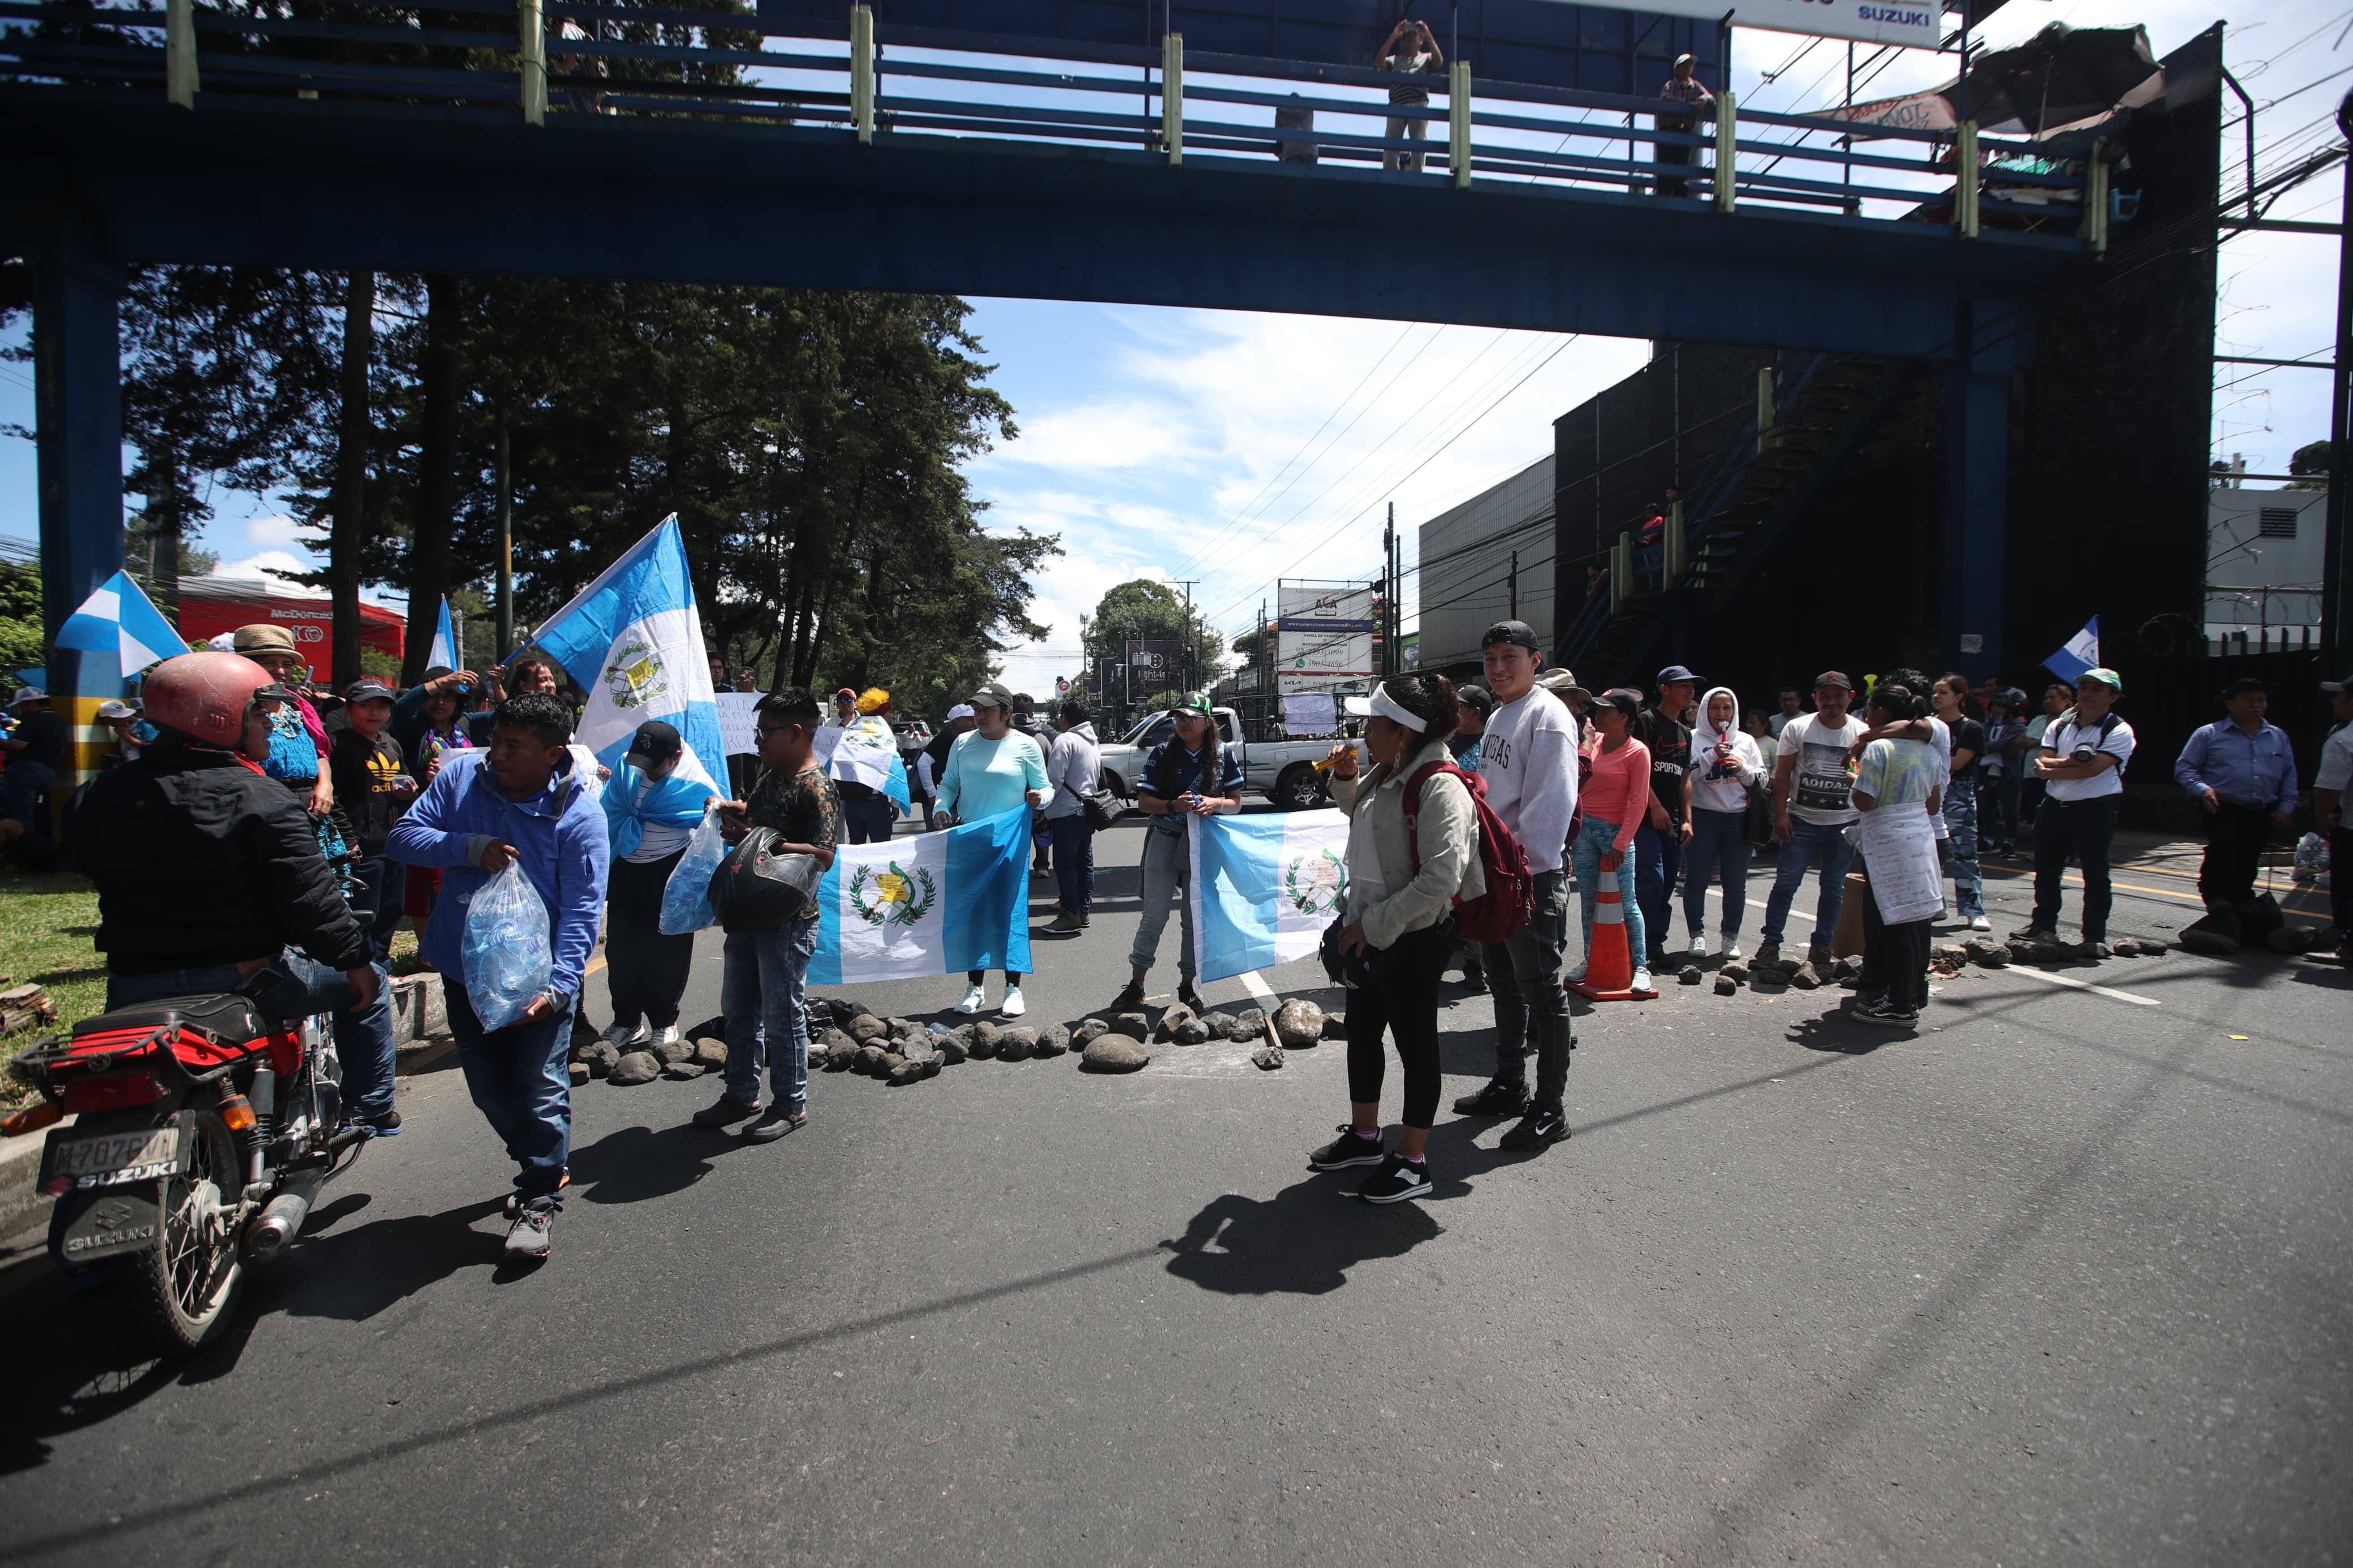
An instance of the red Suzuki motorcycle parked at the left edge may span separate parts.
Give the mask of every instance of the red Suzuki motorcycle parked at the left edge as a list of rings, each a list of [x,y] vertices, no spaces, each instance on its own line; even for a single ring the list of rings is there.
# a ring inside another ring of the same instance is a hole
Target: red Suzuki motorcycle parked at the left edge
[[[235,992],[118,1006],[24,1051],[49,1131],[40,1190],[68,1281],[132,1276],[160,1354],[221,1335],[249,1265],[282,1258],[320,1187],[358,1159],[332,1018],[261,969]],[[31,1128],[26,1128],[31,1131]]]

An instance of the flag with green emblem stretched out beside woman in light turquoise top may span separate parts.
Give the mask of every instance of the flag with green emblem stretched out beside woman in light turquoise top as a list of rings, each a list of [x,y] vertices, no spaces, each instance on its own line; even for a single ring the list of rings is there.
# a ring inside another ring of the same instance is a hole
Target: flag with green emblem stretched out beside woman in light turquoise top
[[[809,985],[1031,973],[1028,856],[1028,806],[946,832],[840,844],[816,884]]]

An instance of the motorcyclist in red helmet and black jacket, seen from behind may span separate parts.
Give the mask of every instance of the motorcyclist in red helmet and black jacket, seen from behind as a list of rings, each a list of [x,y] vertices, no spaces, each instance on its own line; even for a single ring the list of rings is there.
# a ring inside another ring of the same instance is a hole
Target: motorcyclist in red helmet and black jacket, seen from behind
[[[226,992],[278,964],[308,987],[313,1011],[334,1013],[344,1114],[391,1135],[386,973],[304,802],[259,766],[282,701],[242,654],[160,663],[146,679],[155,743],[78,797],[66,853],[99,884],[106,1006]]]

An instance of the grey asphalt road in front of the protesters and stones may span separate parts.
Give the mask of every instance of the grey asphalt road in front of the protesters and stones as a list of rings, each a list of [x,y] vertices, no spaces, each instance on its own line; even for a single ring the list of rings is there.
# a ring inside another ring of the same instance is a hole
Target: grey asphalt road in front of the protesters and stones
[[[1040,940],[1040,1018],[1122,978],[1136,846],[1104,839],[1092,933]],[[2118,929],[2169,931],[2160,893]],[[1572,1143],[1442,1119],[1398,1208],[1304,1168],[1337,1046],[819,1077],[758,1150],[685,1126],[706,1084],[600,1084],[532,1274],[459,1077],[419,1072],[188,1366],[125,1361],[38,1253],[0,1272],[0,1554],[2344,1561],[2353,976],[2068,978],[2106,990],[1951,980],[1918,1039],[1828,994],[1600,1009]],[[1492,1013],[1449,997],[1452,1095]]]

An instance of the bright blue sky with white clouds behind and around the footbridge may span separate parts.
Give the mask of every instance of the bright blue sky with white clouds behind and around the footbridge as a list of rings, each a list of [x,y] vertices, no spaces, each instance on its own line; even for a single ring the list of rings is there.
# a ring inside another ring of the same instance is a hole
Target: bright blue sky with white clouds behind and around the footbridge
[[[2259,106],[2264,172],[2327,146],[2353,71],[2348,5],[2012,0],[1984,40],[2002,47],[2049,21],[2141,21],[2162,54],[2217,16],[2231,24],[2224,56]],[[1842,92],[1845,56],[1831,40],[1739,31],[1734,87],[1755,108],[1821,108]],[[1948,59],[1901,54],[1859,96],[1948,78]],[[2226,129],[2226,190],[2238,134]],[[2334,219],[2339,193],[2332,172],[2273,216]],[[2334,249],[2299,235],[2231,240],[2217,353],[2325,350]],[[1014,299],[974,306],[972,329],[1021,428],[974,461],[974,487],[995,527],[1064,541],[1035,583],[1033,614],[1052,632],[1007,656],[1007,677],[1024,689],[1075,670],[1078,616],[1132,576],[1198,578],[1195,599],[1226,630],[1247,630],[1278,576],[1369,576],[1391,501],[1412,541],[1433,512],[1544,456],[1560,411],[1647,357],[1640,341],[1473,327]],[[2327,435],[2325,374],[2217,367],[2214,383],[2217,456],[2238,451],[2252,470],[2278,473],[2297,447]],[[0,423],[33,423],[31,364],[0,362]],[[216,505],[202,543],[226,567],[306,564],[289,520],[268,501],[219,496]],[[35,531],[33,447],[0,440],[0,534]]]

